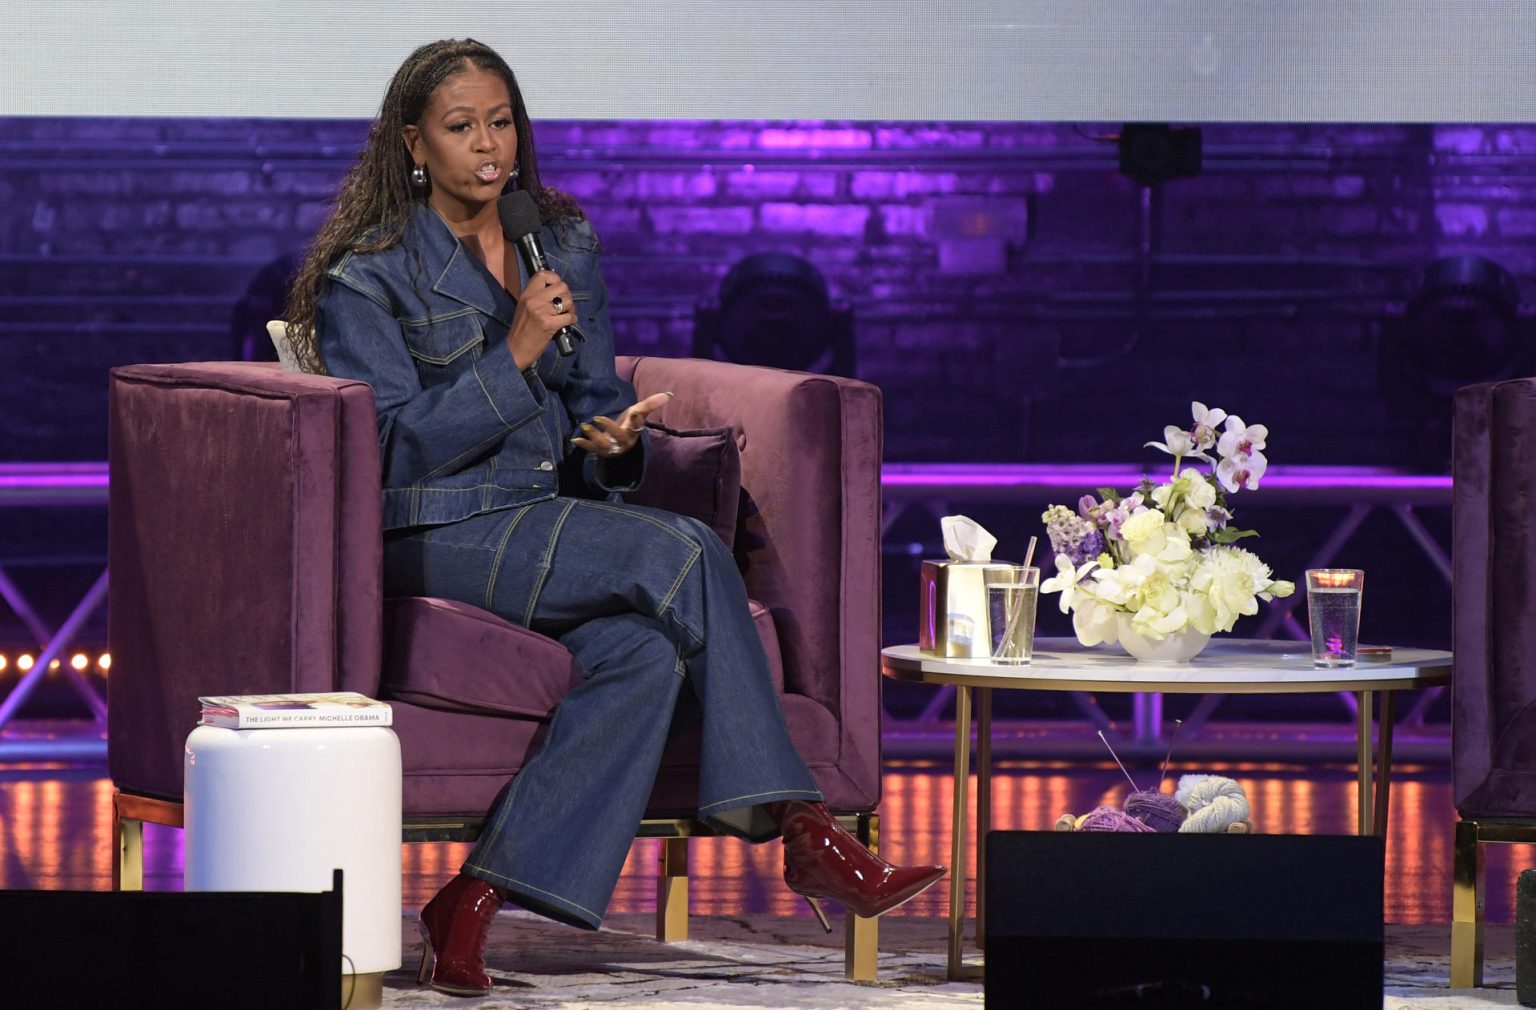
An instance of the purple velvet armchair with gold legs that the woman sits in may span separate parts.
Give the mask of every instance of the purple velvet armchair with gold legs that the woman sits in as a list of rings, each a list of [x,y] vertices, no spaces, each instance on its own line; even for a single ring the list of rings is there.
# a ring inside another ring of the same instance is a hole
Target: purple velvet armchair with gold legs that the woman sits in
[[[711,522],[754,600],[790,732],[868,844],[880,800],[882,405],[849,379],[625,358],[673,390],[642,503]],[[386,600],[372,390],[255,362],[126,365],[111,379],[108,761],[120,887],[143,823],[181,824],[198,695],[389,698],[406,841],[470,840],[573,675],[550,639],[462,603]],[[662,837],[657,935],[687,936],[696,741],[674,740],[642,833]],[[848,916],[848,972],[874,976]]]

